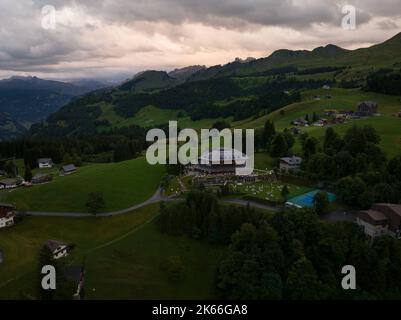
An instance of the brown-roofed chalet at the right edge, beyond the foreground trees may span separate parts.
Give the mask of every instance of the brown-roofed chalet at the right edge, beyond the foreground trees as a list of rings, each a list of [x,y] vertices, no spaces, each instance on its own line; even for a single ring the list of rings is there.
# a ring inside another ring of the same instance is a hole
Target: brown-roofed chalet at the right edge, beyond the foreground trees
[[[370,210],[356,213],[356,223],[371,238],[382,235],[401,237],[401,205],[374,204]]]

